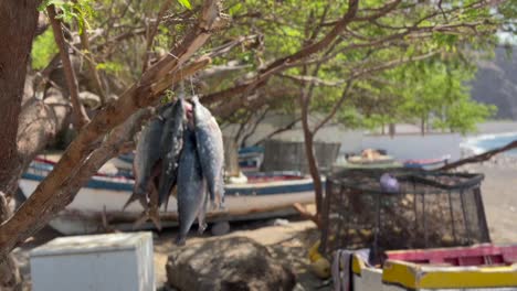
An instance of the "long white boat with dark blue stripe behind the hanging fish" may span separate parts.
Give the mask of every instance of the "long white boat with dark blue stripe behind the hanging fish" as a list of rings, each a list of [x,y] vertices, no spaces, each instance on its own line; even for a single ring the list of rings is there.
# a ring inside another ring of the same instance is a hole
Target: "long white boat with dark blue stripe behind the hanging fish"
[[[52,168],[53,162],[43,159],[31,163],[20,180],[20,190],[25,198]],[[133,192],[133,185],[134,180],[130,176],[94,175],[50,226],[66,235],[96,233],[107,227],[133,229],[143,207],[136,202],[122,211]],[[294,203],[313,202],[312,179],[295,172],[257,173],[250,175],[245,184],[226,184],[224,209],[209,211],[207,220],[231,222],[287,216],[296,214]],[[161,209],[160,217],[163,227],[177,225],[177,203],[173,196],[170,197],[167,211]],[[146,223],[138,229],[152,227],[150,223]]]

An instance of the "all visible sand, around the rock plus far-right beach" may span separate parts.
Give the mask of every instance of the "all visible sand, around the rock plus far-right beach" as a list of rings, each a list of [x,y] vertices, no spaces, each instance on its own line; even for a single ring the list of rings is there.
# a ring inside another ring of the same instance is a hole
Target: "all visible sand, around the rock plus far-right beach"
[[[517,244],[517,163],[507,160],[497,163],[487,162],[468,165],[467,170],[485,174],[482,193],[492,240],[496,244]],[[14,254],[22,266],[27,282],[30,282],[29,250],[57,235],[52,229],[45,228],[34,237],[34,240],[15,249]],[[159,289],[162,289],[167,280],[165,265],[169,251],[175,248],[172,244],[175,236],[175,229],[155,235],[155,270]],[[291,218],[287,224],[282,225],[274,225],[273,219],[234,224],[232,231],[226,236],[246,236],[266,245],[274,256],[293,267],[299,282],[297,290],[330,290],[329,287],[323,287],[324,282],[307,270],[307,249],[318,239],[318,233],[312,222]],[[191,236],[188,244],[202,239],[217,238],[211,238],[209,234],[201,237]],[[29,287],[30,283],[25,290],[30,290]]]

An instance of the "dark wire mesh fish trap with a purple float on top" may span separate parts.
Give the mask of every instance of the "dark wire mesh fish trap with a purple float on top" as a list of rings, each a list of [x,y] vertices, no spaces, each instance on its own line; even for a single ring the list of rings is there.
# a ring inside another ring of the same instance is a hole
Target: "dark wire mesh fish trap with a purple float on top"
[[[387,174],[394,188],[387,188]],[[488,242],[482,174],[418,170],[344,170],[326,182],[323,254],[370,248],[382,262],[390,249]]]

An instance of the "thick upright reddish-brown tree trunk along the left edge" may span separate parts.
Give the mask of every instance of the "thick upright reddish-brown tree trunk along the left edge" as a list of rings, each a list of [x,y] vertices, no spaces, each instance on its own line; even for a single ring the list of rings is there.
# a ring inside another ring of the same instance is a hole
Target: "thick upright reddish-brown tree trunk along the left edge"
[[[35,0],[7,0],[0,6],[0,223],[10,214],[4,195],[14,193],[17,170],[18,118],[21,111],[27,64],[38,25]],[[12,257],[0,257],[0,290],[14,289],[20,277]]]

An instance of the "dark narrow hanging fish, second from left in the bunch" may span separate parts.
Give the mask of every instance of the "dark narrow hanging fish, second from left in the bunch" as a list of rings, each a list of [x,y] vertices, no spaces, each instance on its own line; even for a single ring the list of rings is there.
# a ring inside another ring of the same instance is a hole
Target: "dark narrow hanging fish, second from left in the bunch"
[[[161,175],[158,187],[158,205],[169,201],[170,193],[177,183],[178,163],[183,147],[184,108],[183,98],[180,97],[170,110],[170,116],[165,116],[163,136],[161,138]]]

